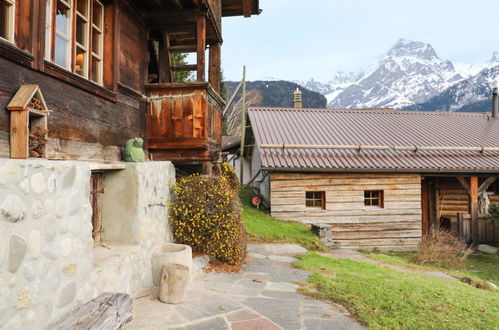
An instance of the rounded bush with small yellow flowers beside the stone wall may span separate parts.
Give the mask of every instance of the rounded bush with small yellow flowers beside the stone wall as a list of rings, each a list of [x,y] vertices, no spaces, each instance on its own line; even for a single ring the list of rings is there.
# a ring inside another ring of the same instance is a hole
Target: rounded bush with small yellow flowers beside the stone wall
[[[172,229],[178,243],[225,263],[241,263],[246,228],[241,204],[224,177],[191,175],[174,187]]]

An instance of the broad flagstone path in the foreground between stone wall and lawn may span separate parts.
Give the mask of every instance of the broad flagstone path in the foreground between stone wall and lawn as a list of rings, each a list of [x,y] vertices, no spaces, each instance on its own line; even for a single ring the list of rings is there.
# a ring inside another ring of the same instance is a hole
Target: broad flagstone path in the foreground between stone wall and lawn
[[[342,306],[296,292],[310,272],[291,268],[294,244],[249,245],[240,273],[208,273],[194,280],[181,305],[151,297],[134,301],[124,329],[363,329]]]

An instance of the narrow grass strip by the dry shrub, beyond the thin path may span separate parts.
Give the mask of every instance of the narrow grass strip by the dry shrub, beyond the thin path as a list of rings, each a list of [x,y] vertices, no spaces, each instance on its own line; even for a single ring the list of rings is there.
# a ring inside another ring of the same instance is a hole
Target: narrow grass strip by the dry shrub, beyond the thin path
[[[499,256],[493,254],[472,254],[468,257],[468,262],[463,269],[454,268],[444,268],[436,266],[421,266],[411,262],[414,252],[380,252],[380,251],[369,251],[365,254],[372,258],[382,262],[402,265],[408,267],[416,267],[420,269],[431,269],[438,270],[449,275],[453,275],[459,278],[464,276],[469,276],[472,278],[480,278],[494,283],[499,286]]]

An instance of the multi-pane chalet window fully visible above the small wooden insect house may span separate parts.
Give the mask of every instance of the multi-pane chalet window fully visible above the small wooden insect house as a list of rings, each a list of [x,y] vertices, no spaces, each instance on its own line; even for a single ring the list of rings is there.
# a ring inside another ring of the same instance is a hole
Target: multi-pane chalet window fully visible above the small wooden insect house
[[[104,5],[98,0],[45,1],[45,59],[102,84]]]

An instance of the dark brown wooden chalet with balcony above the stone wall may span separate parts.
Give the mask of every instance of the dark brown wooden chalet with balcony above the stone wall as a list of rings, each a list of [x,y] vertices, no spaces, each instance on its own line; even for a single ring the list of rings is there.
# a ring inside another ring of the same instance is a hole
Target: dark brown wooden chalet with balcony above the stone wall
[[[124,143],[140,136],[151,160],[206,171],[218,161],[222,17],[259,14],[258,0],[4,0],[0,7],[0,157],[27,157],[11,147],[24,137],[12,136],[27,134],[33,121],[11,123],[6,108],[28,85],[50,110],[43,112],[48,159],[119,161]],[[196,53],[197,61],[175,66],[173,53]],[[195,81],[175,83],[177,71],[195,72]]]

